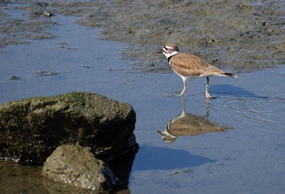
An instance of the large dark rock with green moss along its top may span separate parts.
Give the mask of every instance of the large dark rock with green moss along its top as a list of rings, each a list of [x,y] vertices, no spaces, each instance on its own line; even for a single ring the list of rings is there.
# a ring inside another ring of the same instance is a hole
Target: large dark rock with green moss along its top
[[[135,111],[102,95],[71,92],[0,106],[0,157],[42,164],[63,144],[88,146],[108,161],[138,148]]]

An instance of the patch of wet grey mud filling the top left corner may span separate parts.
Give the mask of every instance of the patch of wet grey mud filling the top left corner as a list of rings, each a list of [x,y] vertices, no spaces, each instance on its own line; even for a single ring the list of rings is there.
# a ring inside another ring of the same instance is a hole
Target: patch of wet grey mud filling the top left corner
[[[55,36],[46,29],[55,26],[56,23],[41,18],[45,5],[46,3],[32,1],[0,1],[0,47],[54,38]]]

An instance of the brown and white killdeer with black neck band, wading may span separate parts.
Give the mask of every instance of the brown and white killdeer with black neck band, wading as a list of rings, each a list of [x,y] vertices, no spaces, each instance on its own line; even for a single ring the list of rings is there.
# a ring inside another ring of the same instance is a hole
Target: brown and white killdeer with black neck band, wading
[[[179,50],[174,44],[164,45],[162,48],[162,53],[166,56],[168,63],[172,70],[176,72],[184,82],[184,88],[180,93],[180,96],[186,90],[186,81],[187,79],[194,77],[206,77],[207,78],[207,86],[206,86],[206,97],[207,99],[211,99],[211,96],[208,92],[209,87],[209,77],[212,75],[220,75],[220,76],[229,76],[237,78],[237,75],[234,75],[230,72],[224,72],[215,68],[212,65],[204,62],[201,58],[198,58],[195,55],[191,55],[188,53],[179,53]]]

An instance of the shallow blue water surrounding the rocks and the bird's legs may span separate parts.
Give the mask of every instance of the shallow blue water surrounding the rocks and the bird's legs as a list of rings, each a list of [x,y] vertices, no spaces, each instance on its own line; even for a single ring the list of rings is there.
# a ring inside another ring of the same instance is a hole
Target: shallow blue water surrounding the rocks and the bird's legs
[[[183,112],[181,78],[132,73],[133,62],[120,55],[128,45],[98,40],[99,29],[78,26],[71,16],[52,19],[61,24],[48,30],[56,38],[1,48],[0,104],[71,91],[132,104],[140,151],[130,175],[131,193],[284,193],[285,65],[239,73],[237,79],[212,77],[209,93],[215,99],[209,103],[206,79],[188,81],[185,112],[227,130],[181,135],[167,144],[156,130],[164,131]],[[5,162],[0,167],[0,193],[48,193],[32,167]]]

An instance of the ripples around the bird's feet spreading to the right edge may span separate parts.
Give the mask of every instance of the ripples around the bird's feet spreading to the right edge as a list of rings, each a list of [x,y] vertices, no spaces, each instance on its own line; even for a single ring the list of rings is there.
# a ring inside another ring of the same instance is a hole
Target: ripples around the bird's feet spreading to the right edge
[[[201,105],[206,103],[214,122],[232,126],[242,135],[274,141],[273,137],[280,136],[280,131],[281,134],[285,133],[285,96],[280,95],[280,91],[249,92],[241,87],[215,85],[209,93],[213,99],[208,104],[204,92],[185,92],[183,97],[188,103],[189,100]],[[180,92],[162,92],[162,95],[177,98]]]

